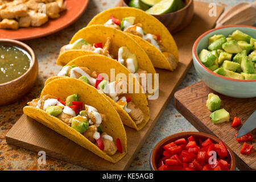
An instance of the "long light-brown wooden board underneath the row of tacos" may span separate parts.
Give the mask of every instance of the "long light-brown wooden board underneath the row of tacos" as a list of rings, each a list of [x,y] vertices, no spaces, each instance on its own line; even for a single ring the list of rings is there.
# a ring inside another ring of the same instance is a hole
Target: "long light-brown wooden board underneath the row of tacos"
[[[125,158],[116,164],[92,154],[71,140],[57,134],[31,118],[22,115],[6,134],[6,142],[32,151],[46,151],[46,155],[78,164],[82,167],[100,170],[125,170],[133,162],[144,141],[154,128],[175,90],[187,74],[192,64],[192,46],[198,36],[210,30],[223,12],[224,7],[217,6],[217,16],[208,16],[208,4],[195,2],[195,15],[191,24],[174,35],[179,48],[180,63],[175,72],[157,69],[159,73],[159,98],[150,100],[150,121],[141,131],[125,127],[128,152]]]

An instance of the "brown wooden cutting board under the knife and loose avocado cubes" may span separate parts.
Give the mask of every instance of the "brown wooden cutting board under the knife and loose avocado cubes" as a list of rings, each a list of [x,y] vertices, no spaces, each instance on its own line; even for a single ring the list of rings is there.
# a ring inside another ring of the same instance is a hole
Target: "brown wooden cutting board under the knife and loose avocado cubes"
[[[221,98],[221,108],[230,113],[230,122],[224,122],[214,125],[209,118],[211,111],[206,106],[209,93],[217,94]],[[237,167],[241,170],[256,169],[256,130],[251,132],[253,135],[254,150],[250,155],[240,154],[242,144],[238,143],[235,134],[240,127],[233,128],[231,120],[236,116],[241,119],[242,123],[253,114],[256,110],[256,97],[254,98],[232,98],[214,92],[208,88],[203,81],[197,82],[187,88],[181,89],[174,94],[176,109],[186,118],[197,130],[212,134],[225,142],[236,156]],[[256,122],[256,121],[255,121]]]

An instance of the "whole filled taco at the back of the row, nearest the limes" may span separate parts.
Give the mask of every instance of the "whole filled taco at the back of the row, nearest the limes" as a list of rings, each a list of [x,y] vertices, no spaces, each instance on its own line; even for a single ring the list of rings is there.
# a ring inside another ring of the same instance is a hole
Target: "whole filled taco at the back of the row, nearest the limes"
[[[132,7],[114,7],[94,16],[88,26],[104,24],[131,36],[150,57],[155,68],[174,71],[179,53],[174,38],[154,16]]]

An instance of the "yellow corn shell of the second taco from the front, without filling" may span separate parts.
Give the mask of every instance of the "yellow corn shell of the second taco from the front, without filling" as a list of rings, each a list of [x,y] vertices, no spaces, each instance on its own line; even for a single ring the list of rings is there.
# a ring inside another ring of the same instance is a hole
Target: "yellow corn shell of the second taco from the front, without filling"
[[[75,60],[70,61],[67,65],[76,65],[77,67],[87,67],[90,69],[90,71],[96,71],[97,74],[105,73],[106,75],[108,75],[109,80],[110,80],[110,69],[114,69],[115,77],[119,73],[125,74],[127,78],[127,89],[129,90],[128,78],[131,72],[122,64],[119,64],[117,61],[110,59],[109,57],[102,56],[102,55],[80,56],[80,57],[77,57]],[[50,77],[48,78],[45,84],[48,84],[52,80],[63,78],[63,77],[61,76]],[[82,83],[86,84],[85,82],[82,82]],[[139,88],[139,93],[134,93],[135,87]],[[112,98],[106,96],[106,94],[104,93],[102,94],[110,101],[110,103],[114,106],[115,110],[117,110],[124,125],[132,127],[135,130],[141,130],[148,122],[150,118],[150,113],[149,113],[147,98],[146,98],[146,95],[142,92],[141,85],[139,85],[139,82],[136,78],[133,77],[133,93],[127,93],[126,95],[131,96],[131,101],[133,101],[133,103],[137,107],[139,107],[144,114],[144,120],[139,125],[136,125],[133,119],[131,119],[130,115],[127,114],[126,111],[123,110],[121,106],[119,106],[116,102],[114,102]]]

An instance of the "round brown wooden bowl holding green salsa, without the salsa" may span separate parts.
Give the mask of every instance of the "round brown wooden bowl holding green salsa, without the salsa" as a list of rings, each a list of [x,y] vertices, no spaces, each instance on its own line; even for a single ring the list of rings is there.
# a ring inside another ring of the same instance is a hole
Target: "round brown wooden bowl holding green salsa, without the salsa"
[[[22,76],[16,78],[15,80],[5,82],[0,84],[0,106],[11,104],[18,101],[19,98],[23,97],[32,86],[35,84],[36,78],[38,77],[38,61],[34,51],[22,42],[11,39],[0,39],[0,44],[7,44],[11,46],[16,46],[27,51],[32,60],[30,68]]]

